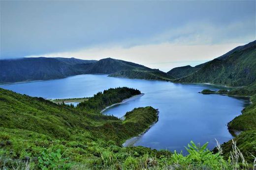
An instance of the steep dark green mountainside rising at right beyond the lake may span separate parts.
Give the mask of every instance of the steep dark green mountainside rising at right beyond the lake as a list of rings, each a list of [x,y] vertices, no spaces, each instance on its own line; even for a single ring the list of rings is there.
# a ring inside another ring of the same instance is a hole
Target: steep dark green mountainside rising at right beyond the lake
[[[223,56],[204,63],[200,69],[192,71],[193,73],[190,68],[186,76],[182,74],[184,77],[178,78],[175,82],[248,86],[256,80],[255,56],[256,41],[232,49]],[[186,69],[183,68],[181,72],[185,73]]]

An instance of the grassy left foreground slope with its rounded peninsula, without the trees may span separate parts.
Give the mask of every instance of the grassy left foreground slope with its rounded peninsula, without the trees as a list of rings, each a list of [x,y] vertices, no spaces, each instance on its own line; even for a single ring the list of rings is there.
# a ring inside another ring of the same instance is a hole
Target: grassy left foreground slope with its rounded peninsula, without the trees
[[[157,111],[152,107],[137,108],[121,121],[3,89],[0,89],[0,105],[0,168],[3,168],[2,161],[11,167],[15,160],[22,163],[26,159],[39,166],[40,162],[34,157],[57,149],[61,149],[63,157],[69,158],[60,160],[63,161],[61,167],[64,162],[76,162],[70,165],[80,162],[87,168],[102,167],[102,154],[119,155],[115,161],[138,153],[161,154],[143,147],[132,150],[120,147],[126,139],[157,121]],[[141,121],[144,118],[147,119]]]

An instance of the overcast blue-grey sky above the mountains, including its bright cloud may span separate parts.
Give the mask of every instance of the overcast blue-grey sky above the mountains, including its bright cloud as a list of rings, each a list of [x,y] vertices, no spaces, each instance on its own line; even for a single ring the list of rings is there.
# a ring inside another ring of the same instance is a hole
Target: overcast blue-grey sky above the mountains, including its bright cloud
[[[0,59],[112,57],[162,71],[256,39],[256,0],[0,0]]]

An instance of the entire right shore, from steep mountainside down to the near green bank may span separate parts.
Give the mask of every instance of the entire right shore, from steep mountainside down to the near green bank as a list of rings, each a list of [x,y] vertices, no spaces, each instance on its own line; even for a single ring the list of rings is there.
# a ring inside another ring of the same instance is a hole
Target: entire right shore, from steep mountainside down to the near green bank
[[[241,115],[228,122],[227,128],[231,132],[242,131],[234,138],[234,141],[244,158],[253,162],[252,155],[256,154],[256,41],[232,49],[224,55],[198,66],[175,68],[169,73],[181,77],[177,78],[175,82],[236,86],[230,91],[205,89],[200,92],[202,94],[250,97],[252,104],[243,109]],[[233,145],[232,140],[222,145],[225,159],[230,156]],[[217,153],[218,149],[215,148],[214,151]]]

